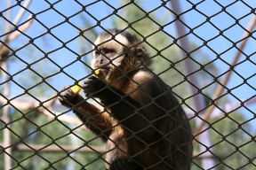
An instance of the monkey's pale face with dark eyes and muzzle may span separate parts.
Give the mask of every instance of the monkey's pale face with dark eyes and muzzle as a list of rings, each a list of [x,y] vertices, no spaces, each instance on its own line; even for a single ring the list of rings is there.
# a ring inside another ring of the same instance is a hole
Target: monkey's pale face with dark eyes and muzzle
[[[100,77],[107,78],[112,69],[121,65],[128,41],[123,35],[116,35],[114,39],[109,35],[99,36],[94,44],[92,68],[99,68]]]

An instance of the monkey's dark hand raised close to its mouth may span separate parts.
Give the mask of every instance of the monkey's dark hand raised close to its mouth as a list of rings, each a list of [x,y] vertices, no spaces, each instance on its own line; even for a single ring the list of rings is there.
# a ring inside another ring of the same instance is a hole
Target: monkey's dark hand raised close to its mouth
[[[88,81],[84,81],[83,89],[86,97],[102,97],[108,90],[106,82],[95,76],[90,77]]]

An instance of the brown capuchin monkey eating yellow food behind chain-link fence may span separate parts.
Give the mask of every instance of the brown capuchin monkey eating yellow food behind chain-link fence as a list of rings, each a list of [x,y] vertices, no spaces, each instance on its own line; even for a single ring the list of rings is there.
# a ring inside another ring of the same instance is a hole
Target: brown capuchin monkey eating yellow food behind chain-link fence
[[[102,108],[79,94],[72,98],[67,88],[59,99],[107,143],[106,169],[190,169],[188,118],[172,90],[150,71],[152,60],[142,42],[124,30],[108,29],[94,45],[92,69],[100,73],[84,81],[83,89]]]

